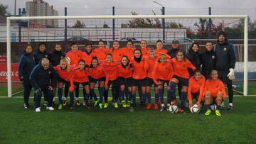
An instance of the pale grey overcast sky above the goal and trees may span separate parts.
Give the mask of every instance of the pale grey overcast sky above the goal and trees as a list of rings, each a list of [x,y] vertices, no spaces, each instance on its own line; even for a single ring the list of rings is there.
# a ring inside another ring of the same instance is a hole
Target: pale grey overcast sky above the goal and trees
[[[17,0],[18,8],[25,8],[28,0]],[[32,0],[31,0],[32,1]],[[153,0],[45,0],[64,15],[64,7],[68,7],[68,15],[110,15],[112,6],[116,14],[129,15],[131,11],[141,14],[161,14],[158,4]],[[157,0],[166,7],[166,14],[247,14],[252,20],[256,19],[256,0]],[[9,12],[14,14],[14,0],[1,0],[1,4],[9,6]]]

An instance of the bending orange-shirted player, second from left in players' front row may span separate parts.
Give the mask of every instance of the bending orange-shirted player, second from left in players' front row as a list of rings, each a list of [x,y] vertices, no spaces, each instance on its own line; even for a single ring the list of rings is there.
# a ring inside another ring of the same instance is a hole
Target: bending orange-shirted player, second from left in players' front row
[[[82,84],[83,89],[85,89],[85,106],[90,109],[88,104],[90,98],[90,86],[89,86],[89,79],[88,79],[88,71],[85,67],[85,60],[80,60],[78,62],[78,68],[76,68],[73,74],[70,77],[70,109],[74,109],[74,89],[79,87],[79,84]]]

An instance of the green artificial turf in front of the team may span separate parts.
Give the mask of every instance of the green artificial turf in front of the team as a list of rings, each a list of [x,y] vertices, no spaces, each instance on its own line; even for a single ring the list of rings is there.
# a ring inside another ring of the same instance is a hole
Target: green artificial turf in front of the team
[[[233,112],[218,117],[111,105],[36,113],[23,109],[23,99],[1,98],[0,143],[255,143],[255,103],[256,96],[235,97]]]

